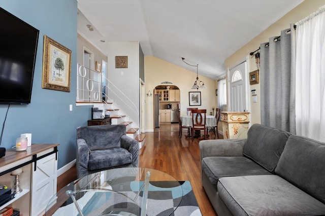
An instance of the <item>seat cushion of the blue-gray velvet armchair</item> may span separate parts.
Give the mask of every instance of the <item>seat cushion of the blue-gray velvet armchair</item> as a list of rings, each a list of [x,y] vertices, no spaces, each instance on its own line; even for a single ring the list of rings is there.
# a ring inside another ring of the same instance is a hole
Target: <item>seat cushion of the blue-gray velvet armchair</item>
[[[107,157],[110,155],[110,157]],[[88,169],[105,169],[132,163],[132,154],[123,148],[93,150],[89,155]]]

